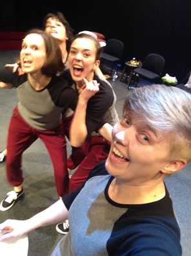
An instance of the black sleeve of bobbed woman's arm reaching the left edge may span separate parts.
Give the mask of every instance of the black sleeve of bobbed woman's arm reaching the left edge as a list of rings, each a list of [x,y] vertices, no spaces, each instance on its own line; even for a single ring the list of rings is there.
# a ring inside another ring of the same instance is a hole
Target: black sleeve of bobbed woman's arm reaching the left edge
[[[12,86],[18,87],[27,80],[27,75],[19,76],[17,71],[12,72],[12,67],[2,67],[0,69],[0,81],[5,83],[11,83]]]

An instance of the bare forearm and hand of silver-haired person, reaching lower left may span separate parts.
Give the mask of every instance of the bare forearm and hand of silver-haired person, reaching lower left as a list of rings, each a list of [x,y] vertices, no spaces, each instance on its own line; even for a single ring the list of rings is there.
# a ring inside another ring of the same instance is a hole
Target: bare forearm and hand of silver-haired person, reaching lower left
[[[37,227],[55,224],[66,220],[66,218],[68,218],[68,209],[66,209],[63,200],[60,199],[28,220],[6,220],[0,224],[0,242],[6,239],[19,238]]]

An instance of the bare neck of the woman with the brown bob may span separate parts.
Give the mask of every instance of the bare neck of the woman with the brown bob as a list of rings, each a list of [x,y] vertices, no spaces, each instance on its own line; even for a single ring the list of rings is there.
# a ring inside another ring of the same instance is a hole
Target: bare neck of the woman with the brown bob
[[[28,73],[27,78],[35,91],[45,88],[51,80],[50,76],[42,75],[41,72],[36,72],[34,74]]]

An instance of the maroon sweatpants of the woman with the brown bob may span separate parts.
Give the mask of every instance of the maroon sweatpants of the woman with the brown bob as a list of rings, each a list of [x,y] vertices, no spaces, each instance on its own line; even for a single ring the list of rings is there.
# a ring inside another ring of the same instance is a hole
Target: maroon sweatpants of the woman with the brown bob
[[[40,138],[50,154],[54,167],[55,185],[59,196],[68,194],[68,170],[66,166],[66,139],[61,124],[54,130],[36,130],[28,125],[14,109],[8,129],[6,174],[10,185],[19,186],[23,183],[21,156],[36,139]]]

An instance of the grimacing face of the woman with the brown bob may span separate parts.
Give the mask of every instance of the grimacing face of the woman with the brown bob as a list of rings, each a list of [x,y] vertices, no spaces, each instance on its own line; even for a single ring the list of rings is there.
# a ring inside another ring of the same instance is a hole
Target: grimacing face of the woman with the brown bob
[[[21,67],[25,73],[41,71],[46,62],[45,41],[39,34],[28,34],[22,43]]]

